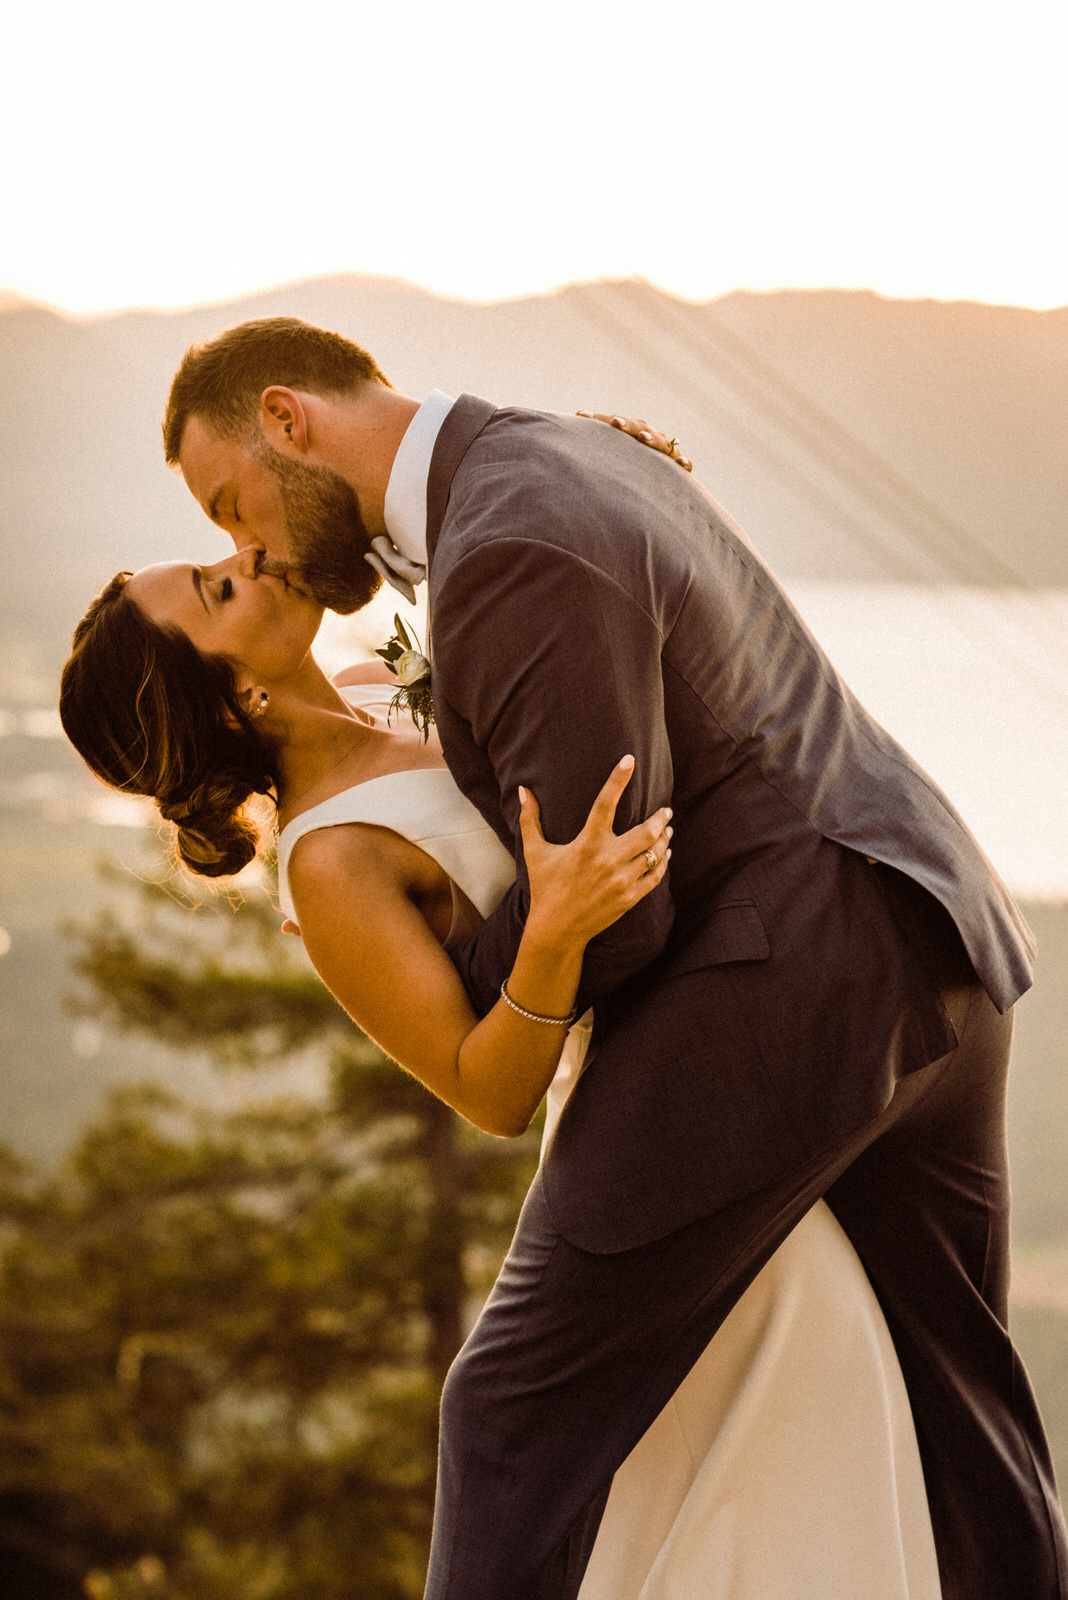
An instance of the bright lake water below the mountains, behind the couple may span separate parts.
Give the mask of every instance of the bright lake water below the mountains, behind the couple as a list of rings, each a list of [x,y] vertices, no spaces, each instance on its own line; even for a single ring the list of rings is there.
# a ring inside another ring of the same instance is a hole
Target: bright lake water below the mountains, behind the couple
[[[1068,590],[787,584],[851,688],[942,784],[1010,888],[1068,898]],[[389,590],[328,618],[331,669],[385,642]]]

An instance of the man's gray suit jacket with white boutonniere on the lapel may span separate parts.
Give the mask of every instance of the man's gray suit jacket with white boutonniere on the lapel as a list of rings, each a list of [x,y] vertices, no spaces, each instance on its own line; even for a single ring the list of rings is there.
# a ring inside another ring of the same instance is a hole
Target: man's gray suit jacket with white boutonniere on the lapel
[[[596,1053],[544,1171],[564,1237],[625,1250],[740,1200],[954,1046],[945,973],[910,938],[924,904],[945,914],[913,885],[1001,1010],[1028,987],[1030,930],[967,827],[687,474],[464,395],[427,506],[446,758],[516,851],[456,955],[480,1013],[529,902],[516,786],[568,840],[632,752],[617,827],[675,811],[668,878],[587,950]]]

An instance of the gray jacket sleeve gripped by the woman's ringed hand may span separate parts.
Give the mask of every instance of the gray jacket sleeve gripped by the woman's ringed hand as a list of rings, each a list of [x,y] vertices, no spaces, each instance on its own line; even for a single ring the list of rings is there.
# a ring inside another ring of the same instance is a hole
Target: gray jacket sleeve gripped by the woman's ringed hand
[[[507,978],[529,906],[518,832],[520,784],[537,797],[545,837],[582,829],[612,766],[635,774],[616,829],[670,803],[660,634],[617,582],[568,550],[521,538],[476,546],[433,602],[435,701],[460,787],[516,854],[516,882],[452,958],[480,1014]],[[664,947],[667,878],[590,942],[579,1006],[603,998]]]

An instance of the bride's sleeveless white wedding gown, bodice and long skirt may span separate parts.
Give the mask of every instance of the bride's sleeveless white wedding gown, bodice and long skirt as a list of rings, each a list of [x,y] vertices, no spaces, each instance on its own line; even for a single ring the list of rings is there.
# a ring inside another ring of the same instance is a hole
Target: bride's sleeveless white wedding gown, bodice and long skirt
[[[345,690],[385,715],[390,690]],[[513,862],[443,768],[392,773],[296,818],[374,822],[425,850],[484,917]],[[588,1014],[548,1093],[574,1088]],[[742,1296],[612,1482],[579,1600],[940,1600],[905,1382],[883,1312],[820,1202]]]

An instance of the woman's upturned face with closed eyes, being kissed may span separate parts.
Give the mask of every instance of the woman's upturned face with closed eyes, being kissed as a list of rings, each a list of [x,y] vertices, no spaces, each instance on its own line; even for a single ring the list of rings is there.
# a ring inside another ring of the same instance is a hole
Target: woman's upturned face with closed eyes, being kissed
[[[205,656],[225,656],[238,686],[280,683],[309,656],[323,606],[285,578],[259,571],[261,546],[214,566],[142,566],[126,590],[150,621],[179,627]]]

